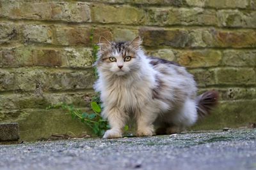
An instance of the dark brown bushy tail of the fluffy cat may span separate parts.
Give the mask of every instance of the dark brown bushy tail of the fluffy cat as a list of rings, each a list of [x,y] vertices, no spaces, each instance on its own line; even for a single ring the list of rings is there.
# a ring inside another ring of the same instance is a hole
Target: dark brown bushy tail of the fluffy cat
[[[196,111],[200,118],[209,115],[212,108],[218,103],[218,97],[219,94],[215,90],[204,92],[204,94],[196,97]]]

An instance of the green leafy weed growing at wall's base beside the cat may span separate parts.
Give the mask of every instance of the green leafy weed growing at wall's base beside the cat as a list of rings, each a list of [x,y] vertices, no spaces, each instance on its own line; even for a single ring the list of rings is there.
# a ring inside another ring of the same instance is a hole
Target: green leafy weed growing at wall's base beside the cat
[[[95,97],[97,99],[97,97]],[[92,101],[91,108],[93,113],[83,112],[77,108],[74,108],[72,104],[59,103],[48,106],[47,109],[62,109],[66,111],[66,114],[71,115],[72,118],[78,118],[86,126],[92,129],[93,134],[96,136],[102,136],[106,130],[109,129],[108,121],[100,117],[101,108],[96,101]]]

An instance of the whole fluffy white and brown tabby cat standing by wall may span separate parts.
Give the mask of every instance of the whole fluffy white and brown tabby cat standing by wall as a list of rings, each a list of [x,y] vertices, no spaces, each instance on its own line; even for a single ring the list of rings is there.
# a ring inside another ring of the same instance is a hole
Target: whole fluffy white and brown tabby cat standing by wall
[[[99,79],[102,117],[111,129],[103,138],[122,138],[129,118],[137,123],[137,136],[172,134],[195,124],[216,104],[214,90],[196,96],[193,76],[179,64],[148,57],[141,49],[140,37],[133,41],[109,42],[100,38],[95,62]]]

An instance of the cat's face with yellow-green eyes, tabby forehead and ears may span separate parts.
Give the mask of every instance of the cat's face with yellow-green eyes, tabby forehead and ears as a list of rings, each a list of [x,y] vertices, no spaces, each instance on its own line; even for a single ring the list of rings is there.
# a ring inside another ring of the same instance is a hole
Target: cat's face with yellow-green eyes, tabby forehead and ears
[[[140,43],[140,38],[125,42],[109,42],[105,38],[101,38],[97,66],[102,71],[108,71],[118,76],[140,69],[140,57],[137,55]]]

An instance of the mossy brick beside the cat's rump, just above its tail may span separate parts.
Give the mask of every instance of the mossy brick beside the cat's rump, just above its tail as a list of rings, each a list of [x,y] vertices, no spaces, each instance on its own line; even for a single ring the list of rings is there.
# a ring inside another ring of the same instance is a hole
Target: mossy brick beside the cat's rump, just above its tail
[[[189,70],[195,77],[198,87],[207,87],[209,85],[216,85],[215,72],[211,69],[192,69]]]

